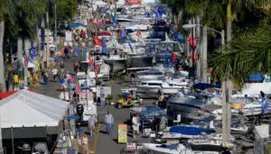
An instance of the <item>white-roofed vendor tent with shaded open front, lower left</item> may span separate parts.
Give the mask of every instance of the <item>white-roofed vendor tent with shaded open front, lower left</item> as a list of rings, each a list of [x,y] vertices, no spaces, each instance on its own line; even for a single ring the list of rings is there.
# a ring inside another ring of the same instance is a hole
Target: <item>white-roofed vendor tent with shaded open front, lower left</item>
[[[45,138],[58,134],[60,121],[69,103],[28,90],[21,90],[0,100],[0,128],[3,140]]]

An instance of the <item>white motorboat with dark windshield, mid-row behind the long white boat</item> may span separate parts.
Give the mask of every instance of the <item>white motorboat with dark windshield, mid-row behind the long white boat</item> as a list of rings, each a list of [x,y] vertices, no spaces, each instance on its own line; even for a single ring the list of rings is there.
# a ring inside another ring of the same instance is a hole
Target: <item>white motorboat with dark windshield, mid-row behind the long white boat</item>
[[[139,80],[163,80],[164,79],[164,71],[159,68],[150,68],[148,70],[138,71],[135,73],[135,77]],[[154,84],[157,86],[157,84]],[[160,84],[159,86],[162,86]]]

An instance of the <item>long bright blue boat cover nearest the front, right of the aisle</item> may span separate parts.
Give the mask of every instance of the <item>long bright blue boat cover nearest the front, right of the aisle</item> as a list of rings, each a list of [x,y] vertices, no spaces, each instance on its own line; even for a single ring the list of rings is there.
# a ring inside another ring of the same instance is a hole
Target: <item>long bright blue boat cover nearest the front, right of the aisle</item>
[[[200,135],[202,132],[211,133],[215,132],[214,130],[206,128],[197,128],[190,126],[173,126],[169,130],[171,133],[182,133],[185,135]]]

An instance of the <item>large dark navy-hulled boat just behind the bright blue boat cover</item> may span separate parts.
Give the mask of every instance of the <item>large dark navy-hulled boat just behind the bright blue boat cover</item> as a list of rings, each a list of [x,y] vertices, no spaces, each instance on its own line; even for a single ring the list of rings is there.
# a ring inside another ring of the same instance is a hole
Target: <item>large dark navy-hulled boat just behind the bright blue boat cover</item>
[[[182,118],[190,120],[203,120],[215,118],[214,113],[203,109],[206,105],[203,99],[193,96],[184,96],[182,93],[177,93],[173,98],[167,101],[168,112],[172,115],[180,113]]]

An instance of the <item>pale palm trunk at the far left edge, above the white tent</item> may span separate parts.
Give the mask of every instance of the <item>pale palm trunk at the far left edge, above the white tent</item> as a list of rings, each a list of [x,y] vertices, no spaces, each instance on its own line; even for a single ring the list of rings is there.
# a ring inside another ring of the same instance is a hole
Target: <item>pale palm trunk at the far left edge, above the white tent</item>
[[[0,22],[0,91],[6,91],[5,86],[5,68],[4,68],[4,57],[3,57],[3,44],[4,44],[4,33],[5,33],[5,21]]]

